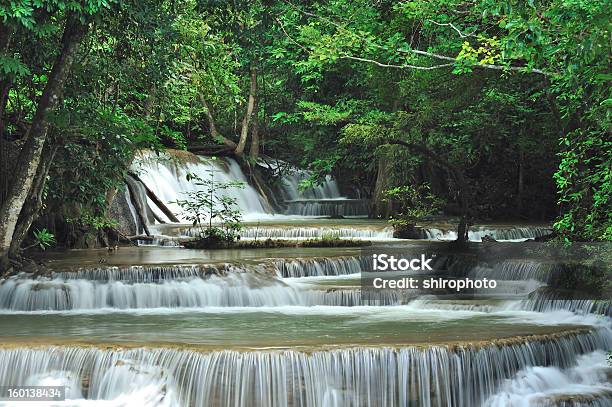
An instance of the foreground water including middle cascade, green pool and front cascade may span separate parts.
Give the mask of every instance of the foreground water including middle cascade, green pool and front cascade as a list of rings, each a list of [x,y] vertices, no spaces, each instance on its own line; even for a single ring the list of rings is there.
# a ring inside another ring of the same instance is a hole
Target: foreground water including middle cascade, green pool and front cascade
[[[586,305],[364,305],[352,249],[191,264],[157,261],[184,249],[146,250],[150,264],[83,266],[92,252],[77,251],[51,259],[48,277],[2,281],[0,383],[63,385],[56,405],[73,406],[606,405],[612,392],[612,325]],[[467,273],[544,284],[554,269],[514,260]]]

